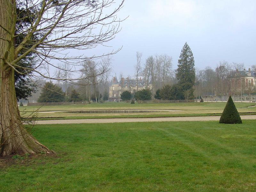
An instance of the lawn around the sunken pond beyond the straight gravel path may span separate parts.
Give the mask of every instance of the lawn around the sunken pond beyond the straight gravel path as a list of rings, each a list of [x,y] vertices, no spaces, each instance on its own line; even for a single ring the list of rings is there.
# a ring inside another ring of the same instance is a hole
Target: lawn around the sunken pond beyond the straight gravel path
[[[255,114],[255,103],[235,103],[238,112],[241,115],[248,113]],[[130,103],[97,103],[90,105],[69,105],[69,106],[43,106],[39,108],[37,114],[39,119],[91,119],[91,118],[132,118],[132,117],[173,117],[173,116],[210,116],[220,115],[226,105],[226,102],[203,102],[203,103],[153,103],[153,104],[130,104]],[[21,116],[26,117],[31,111],[36,110],[38,106],[20,107]],[[153,113],[64,113],[61,110],[91,110],[91,109],[174,109],[180,111],[158,111]],[[27,111],[24,113],[22,111]],[[42,113],[44,111],[44,113]],[[56,111],[56,112],[51,112]]]

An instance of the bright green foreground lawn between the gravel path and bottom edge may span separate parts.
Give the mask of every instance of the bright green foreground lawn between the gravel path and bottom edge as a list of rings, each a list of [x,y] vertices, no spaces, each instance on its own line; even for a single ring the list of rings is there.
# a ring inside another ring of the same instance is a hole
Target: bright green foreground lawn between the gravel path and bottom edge
[[[255,123],[36,125],[57,155],[0,160],[0,191],[256,191]]]

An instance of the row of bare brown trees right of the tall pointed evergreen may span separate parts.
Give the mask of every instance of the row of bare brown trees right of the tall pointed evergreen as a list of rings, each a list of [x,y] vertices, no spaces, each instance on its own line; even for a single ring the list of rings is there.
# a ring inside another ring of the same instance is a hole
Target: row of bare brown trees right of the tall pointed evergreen
[[[256,87],[252,82],[247,82],[242,78],[245,73],[244,63],[220,62],[215,68],[205,67],[196,70],[195,96],[228,96],[252,94],[256,92]],[[246,70],[247,71],[247,70]],[[251,71],[255,71],[252,66]]]

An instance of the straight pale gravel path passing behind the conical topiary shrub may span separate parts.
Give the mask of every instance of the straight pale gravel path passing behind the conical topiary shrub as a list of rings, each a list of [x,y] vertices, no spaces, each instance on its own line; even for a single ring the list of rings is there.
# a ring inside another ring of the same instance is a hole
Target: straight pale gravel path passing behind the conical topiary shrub
[[[243,115],[241,119],[256,119],[256,115]],[[79,123],[124,123],[124,122],[161,122],[161,121],[219,121],[220,116],[201,117],[154,117],[154,118],[111,118],[111,119],[65,119],[39,120],[36,124],[79,124]]]

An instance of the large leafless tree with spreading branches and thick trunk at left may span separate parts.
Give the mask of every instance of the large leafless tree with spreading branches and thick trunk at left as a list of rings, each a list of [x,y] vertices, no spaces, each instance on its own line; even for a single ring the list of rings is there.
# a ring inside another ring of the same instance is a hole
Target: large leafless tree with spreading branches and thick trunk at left
[[[86,76],[59,79],[41,69],[49,66],[55,71],[56,63],[63,62],[71,65],[72,72],[77,74],[84,60],[107,55],[86,57],[84,50],[115,37],[121,21],[116,14],[123,3],[124,0],[119,5],[114,0],[0,1],[0,156],[49,153],[49,149],[22,125],[13,86],[14,71],[18,74],[33,72],[29,76],[74,84],[79,79],[86,79]],[[25,20],[27,25],[23,25]],[[40,36],[35,38],[35,34]],[[23,40],[14,46],[14,40],[19,36]],[[71,55],[71,49],[77,52]],[[33,68],[23,67],[20,61],[30,53],[36,55],[38,62]],[[114,53],[116,51],[108,54]]]

